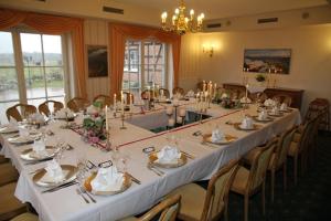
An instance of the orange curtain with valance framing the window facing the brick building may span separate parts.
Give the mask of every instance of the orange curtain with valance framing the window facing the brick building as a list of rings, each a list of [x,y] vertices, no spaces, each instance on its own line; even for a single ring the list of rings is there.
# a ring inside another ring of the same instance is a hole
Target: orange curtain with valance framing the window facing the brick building
[[[109,23],[110,94],[119,93],[124,74],[125,43],[127,39],[156,38],[172,46],[173,84],[178,85],[181,36],[159,29]]]

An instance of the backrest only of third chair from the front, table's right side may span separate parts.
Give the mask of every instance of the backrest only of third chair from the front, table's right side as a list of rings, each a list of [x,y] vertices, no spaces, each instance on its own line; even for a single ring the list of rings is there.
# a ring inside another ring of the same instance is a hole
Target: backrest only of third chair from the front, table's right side
[[[273,138],[270,141],[268,141],[266,146],[257,147],[259,150],[256,151],[257,154],[253,159],[253,164],[249,171],[249,178],[247,182],[248,187],[246,188],[247,191],[255,190],[263,183],[266,177],[266,172],[268,169],[271,155],[274,152],[274,149],[277,146],[277,143],[278,139]]]

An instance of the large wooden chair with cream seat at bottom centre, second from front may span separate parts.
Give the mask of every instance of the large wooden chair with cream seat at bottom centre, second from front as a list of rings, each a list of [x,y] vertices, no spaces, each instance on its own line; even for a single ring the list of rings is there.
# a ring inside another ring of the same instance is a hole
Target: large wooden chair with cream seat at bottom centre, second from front
[[[180,220],[227,220],[228,190],[238,168],[238,160],[222,167],[209,181],[207,190],[195,183],[184,185],[170,194],[181,194]]]

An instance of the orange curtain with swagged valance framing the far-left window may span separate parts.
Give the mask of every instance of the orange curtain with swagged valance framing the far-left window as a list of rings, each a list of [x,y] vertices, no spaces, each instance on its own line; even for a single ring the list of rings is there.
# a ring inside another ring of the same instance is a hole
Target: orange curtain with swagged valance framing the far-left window
[[[0,8],[0,30],[15,27],[19,23],[24,23],[34,30],[46,34],[63,34],[66,32],[72,33],[75,62],[74,66],[77,78],[77,95],[87,97],[84,72],[83,22],[83,19],[40,14]]]

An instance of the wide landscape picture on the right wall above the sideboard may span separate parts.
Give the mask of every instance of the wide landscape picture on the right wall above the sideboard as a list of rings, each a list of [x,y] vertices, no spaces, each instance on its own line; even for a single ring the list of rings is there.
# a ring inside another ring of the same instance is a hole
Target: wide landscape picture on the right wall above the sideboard
[[[244,72],[289,74],[290,49],[245,49]]]

